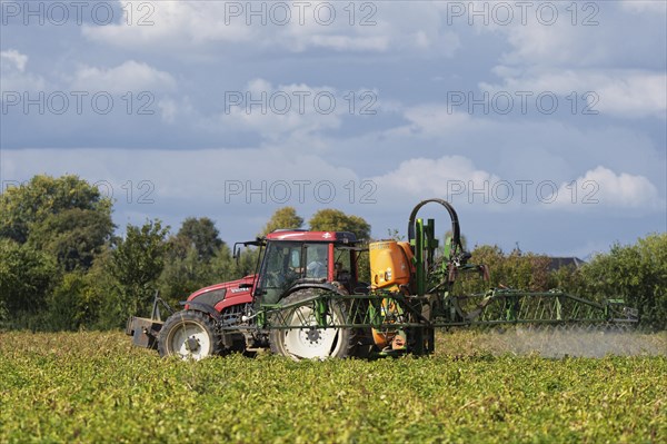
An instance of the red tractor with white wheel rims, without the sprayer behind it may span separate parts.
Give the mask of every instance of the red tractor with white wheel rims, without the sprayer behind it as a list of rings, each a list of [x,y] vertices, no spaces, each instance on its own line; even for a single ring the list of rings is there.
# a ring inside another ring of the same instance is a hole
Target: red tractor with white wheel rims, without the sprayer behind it
[[[258,319],[263,314],[259,307],[271,308],[279,302],[298,304],[315,292],[368,293],[369,284],[359,283],[357,263],[361,249],[356,247],[354,234],[277,230],[242,244],[260,248],[258,274],[192,293],[185,309],[169,316],[163,324],[156,316],[157,298],[151,319],[133,317],[128,324],[127,333],[135,336],[135,344],[157,346],[161,356],[195,359],[268,347],[298,358],[345,357],[357,349],[358,338],[348,329],[286,332],[252,327],[262,320]],[[236,250],[235,246],[235,256]],[[298,315],[310,314],[301,308]]]

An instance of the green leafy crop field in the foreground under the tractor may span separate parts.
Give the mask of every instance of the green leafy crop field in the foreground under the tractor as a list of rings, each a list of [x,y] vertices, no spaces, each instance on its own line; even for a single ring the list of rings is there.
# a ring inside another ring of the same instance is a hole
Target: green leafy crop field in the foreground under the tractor
[[[610,339],[635,356],[458,332],[428,358],[195,363],[121,333],[0,333],[0,443],[665,443],[666,335],[640,336]]]

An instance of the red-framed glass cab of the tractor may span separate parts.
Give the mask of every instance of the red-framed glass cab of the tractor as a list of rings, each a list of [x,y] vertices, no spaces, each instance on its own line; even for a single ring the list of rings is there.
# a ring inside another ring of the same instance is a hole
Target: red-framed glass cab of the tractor
[[[357,238],[347,231],[276,230],[265,238],[255,300],[277,304],[298,288],[336,287],[354,293],[358,284]]]

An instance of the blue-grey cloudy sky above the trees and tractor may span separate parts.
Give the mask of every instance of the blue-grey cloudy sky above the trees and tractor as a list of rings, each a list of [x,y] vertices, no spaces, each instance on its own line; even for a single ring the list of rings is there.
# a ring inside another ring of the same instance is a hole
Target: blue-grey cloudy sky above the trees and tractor
[[[665,1],[0,6],[2,188],[77,174],[121,230],[291,205],[379,238],[429,197],[506,250],[667,230]]]

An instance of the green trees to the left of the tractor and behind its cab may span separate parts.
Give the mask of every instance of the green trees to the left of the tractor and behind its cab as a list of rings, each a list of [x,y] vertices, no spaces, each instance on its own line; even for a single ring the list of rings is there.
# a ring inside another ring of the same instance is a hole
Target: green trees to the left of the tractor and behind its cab
[[[0,196],[0,326],[30,329],[121,327],[148,315],[156,289],[178,306],[191,292],[251,274],[257,253],[232,259],[207,217],[187,218],[176,234],[160,220],[115,234],[112,203],[77,176],[36,176]],[[322,209],[315,230],[351,230],[369,238],[360,217]],[[301,228],[281,208],[258,235]]]

